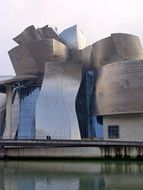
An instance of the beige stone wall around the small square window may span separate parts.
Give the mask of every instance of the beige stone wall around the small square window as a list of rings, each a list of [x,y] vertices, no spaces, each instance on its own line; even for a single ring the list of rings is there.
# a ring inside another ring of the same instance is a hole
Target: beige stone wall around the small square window
[[[103,124],[104,140],[143,141],[143,114],[108,115]],[[120,138],[108,138],[108,125],[119,125]]]

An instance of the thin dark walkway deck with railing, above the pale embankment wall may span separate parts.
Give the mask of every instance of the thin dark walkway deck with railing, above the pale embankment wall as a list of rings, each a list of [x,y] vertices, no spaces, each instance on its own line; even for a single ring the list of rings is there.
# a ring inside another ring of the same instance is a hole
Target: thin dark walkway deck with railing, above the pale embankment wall
[[[0,140],[3,147],[143,147],[143,141],[102,141],[102,140]]]

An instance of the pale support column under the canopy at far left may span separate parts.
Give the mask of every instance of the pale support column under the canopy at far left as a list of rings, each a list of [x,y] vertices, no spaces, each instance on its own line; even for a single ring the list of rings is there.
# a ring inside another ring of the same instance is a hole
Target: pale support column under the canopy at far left
[[[6,87],[6,126],[3,139],[12,137],[12,85]]]

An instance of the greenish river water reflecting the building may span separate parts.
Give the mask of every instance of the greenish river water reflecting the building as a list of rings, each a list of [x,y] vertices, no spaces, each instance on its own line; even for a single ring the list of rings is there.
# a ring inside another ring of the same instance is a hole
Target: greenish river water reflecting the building
[[[143,190],[143,162],[0,161],[0,190]]]

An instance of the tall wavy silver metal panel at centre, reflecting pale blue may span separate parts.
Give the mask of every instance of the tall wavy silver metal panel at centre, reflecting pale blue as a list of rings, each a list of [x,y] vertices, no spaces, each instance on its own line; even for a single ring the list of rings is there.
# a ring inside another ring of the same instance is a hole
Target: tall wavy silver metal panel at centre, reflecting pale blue
[[[36,107],[36,138],[80,139],[75,99],[81,66],[49,62]]]

